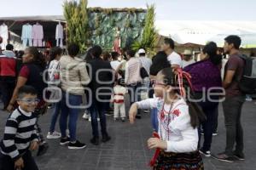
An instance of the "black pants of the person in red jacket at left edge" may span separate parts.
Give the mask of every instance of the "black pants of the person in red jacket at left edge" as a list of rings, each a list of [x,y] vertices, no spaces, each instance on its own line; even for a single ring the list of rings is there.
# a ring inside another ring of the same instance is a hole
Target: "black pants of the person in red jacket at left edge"
[[[2,93],[3,109],[6,109],[15,90],[15,77],[0,77],[0,90]]]

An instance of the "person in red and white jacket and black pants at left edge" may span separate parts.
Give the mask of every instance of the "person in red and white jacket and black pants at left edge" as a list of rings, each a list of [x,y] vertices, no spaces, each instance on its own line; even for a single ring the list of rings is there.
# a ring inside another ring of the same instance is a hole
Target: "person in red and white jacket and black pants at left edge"
[[[16,57],[14,46],[8,44],[3,54],[0,53],[0,89],[3,95],[3,111],[9,105],[9,100],[15,89]]]

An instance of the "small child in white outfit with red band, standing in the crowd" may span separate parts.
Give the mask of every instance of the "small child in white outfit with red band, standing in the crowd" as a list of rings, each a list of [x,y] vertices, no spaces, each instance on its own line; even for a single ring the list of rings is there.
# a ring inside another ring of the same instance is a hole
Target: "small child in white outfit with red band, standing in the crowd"
[[[127,89],[122,86],[121,79],[118,80],[117,85],[113,88],[113,120],[119,118],[119,112],[122,122],[125,122],[125,94]]]

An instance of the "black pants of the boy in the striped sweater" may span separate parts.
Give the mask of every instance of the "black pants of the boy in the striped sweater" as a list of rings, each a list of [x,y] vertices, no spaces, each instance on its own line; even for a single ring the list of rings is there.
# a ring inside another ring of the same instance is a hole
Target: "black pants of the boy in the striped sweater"
[[[22,170],[38,170],[38,166],[29,150],[22,156],[22,159],[24,161]],[[15,162],[10,156],[4,156],[0,153],[0,170],[15,170]]]

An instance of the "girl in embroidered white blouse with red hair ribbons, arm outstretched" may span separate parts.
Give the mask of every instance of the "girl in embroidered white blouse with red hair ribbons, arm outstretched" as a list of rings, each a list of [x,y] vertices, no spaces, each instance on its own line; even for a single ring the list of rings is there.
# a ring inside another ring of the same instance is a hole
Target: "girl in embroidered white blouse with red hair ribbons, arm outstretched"
[[[158,133],[148,139],[148,148],[155,149],[150,166],[154,170],[203,170],[203,161],[197,150],[197,127],[202,112],[195,103],[186,101],[183,77],[186,72],[166,68],[157,74],[154,82],[156,99],[145,99],[131,105],[129,117],[133,123],[137,109],[157,108]]]

